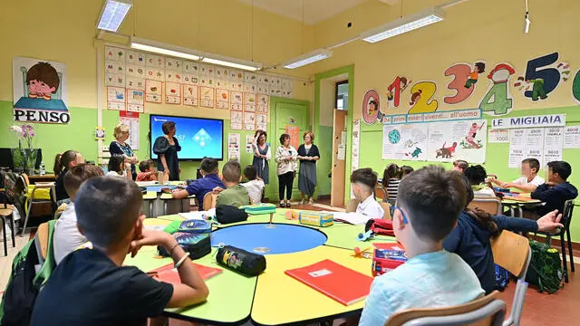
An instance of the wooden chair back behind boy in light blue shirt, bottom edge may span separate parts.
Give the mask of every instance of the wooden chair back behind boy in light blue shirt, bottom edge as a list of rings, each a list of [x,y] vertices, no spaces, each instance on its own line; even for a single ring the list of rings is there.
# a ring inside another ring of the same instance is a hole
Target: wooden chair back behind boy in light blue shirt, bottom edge
[[[472,302],[450,307],[406,309],[394,313],[385,326],[492,325],[506,316],[506,302],[495,299],[498,291]]]

